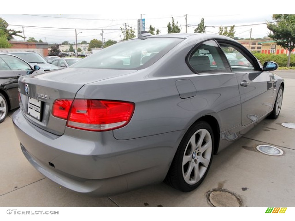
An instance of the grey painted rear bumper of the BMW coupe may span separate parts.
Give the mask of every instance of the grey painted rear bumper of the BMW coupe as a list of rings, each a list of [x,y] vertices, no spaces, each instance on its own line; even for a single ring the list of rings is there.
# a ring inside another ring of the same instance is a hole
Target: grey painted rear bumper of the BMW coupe
[[[119,141],[112,131],[90,132],[85,138],[86,131],[66,128],[56,136],[28,122],[20,110],[13,122],[24,155],[39,172],[63,187],[96,196],[163,181],[185,133]]]

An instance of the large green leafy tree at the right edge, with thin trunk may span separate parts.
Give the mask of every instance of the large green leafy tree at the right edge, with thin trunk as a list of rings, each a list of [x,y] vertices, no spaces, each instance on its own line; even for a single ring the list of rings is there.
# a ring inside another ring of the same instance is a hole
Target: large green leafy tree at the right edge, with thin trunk
[[[290,66],[291,52],[295,48],[295,15],[274,14],[273,20],[276,23],[268,23],[267,28],[272,33],[268,37],[274,39],[277,45],[289,51],[287,68]]]

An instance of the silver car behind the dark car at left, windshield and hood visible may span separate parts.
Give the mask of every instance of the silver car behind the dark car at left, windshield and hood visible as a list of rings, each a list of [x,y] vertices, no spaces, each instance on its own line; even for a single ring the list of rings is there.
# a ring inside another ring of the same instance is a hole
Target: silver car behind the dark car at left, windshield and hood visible
[[[49,64],[44,57],[35,52],[9,52],[9,54],[20,57],[32,66],[38,65],[44,71],[59,69],[59,67]]]

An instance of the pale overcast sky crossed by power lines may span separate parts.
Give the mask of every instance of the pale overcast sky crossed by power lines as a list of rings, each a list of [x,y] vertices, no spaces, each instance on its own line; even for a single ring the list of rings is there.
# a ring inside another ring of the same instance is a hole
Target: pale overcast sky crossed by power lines
[[[172,23],[171,17],[174,17],[175,22],[181,25],[181,32],[185,32],[185,14],[143,14],[142,18],[145,19],[145,30],[149,29],[152,25],[160,30],[161,34],[167,33],[168,22]],[[252,37],[265,37],[269,30],[267,29],[266,21],[272,21],[272,14],[257,14],[255,16],[241,15],[235,13],[216,13],[216,14],[188,14],[188,32],[193,33],[194,29],[200,23],[201,18],[204,18],[206,31],[208,33],[217,33],[219,26],[240,26],[249,25],[244,27],[235,27],[235,36],[249,38],[250,29],[252,28]],[[0,15],[9,24],[9,28],[22,31],[24,27],[25,37],[34,37],[35,39],[45,40],[48,43],[61,43],[63,41],[75,42],[75,30],[77,29],[77,40],[89,42],[96,38],[101,40],[101,28],[104,30],[104,39],[120,40],[122,31],[120,27],[124,28],[125,23],[132,28],[135,28],[137,34],[137,19],[140,19],[140,14],[104,14],[104,15],[83,15],[83,14],[42,14],[42,15]],[[76,19],[72,19],[76,18]],[[97,20],[95,20],[97,19]],[[101,20],[100,20],[101,19]],[[259,24],[259,25],[255,25]],[[16,26],[12,26],[16,25]],[[38,26],[38,27],[25,27],[25,26]],[[50,27],[50,28],[45,28]],[[55,29],[60,28],[60,29]],[[72,29],[63,29],[72,28]],[[85,29],[100,29],[100,30],[85,30]],[[22,40],[16,37],[16,40]]]

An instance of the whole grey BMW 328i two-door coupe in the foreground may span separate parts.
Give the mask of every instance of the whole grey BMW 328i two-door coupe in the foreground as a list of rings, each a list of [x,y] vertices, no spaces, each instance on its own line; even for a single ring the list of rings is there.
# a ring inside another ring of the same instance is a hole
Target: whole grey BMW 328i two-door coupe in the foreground
[[[251,66],[230,62],[234,50]],[[279,116],[277,67],[222,35],[142,32],[68,68],[21,77],[14,128],[28,161],[68,189],[110,196],[164,180],[189,192],[214,154]]]

